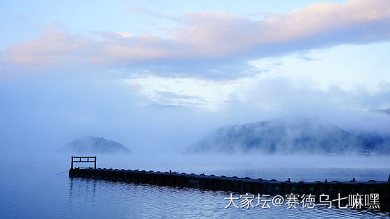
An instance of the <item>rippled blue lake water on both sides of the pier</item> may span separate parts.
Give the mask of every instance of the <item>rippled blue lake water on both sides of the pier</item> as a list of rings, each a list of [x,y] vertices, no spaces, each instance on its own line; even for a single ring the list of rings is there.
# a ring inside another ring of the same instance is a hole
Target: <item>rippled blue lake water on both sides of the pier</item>
[[[26,171],[29,170],[29,171]],[[196,170],[196,168],[192,168]],[[199,170],[202,172],[201,170]],[[390,218],[356,209],[224,209],[230,193],[56,175],[57,168],[3,168],[0,218]],[[196,171],[194,171],[196,172]],[[198,172],[196,172],[198,173]],[[387,181],[390,168],[216,168],[205,174],[313,181]],[[240,194],[235,194],[240,195]],[[237,203],[240,204],[240,203]]]

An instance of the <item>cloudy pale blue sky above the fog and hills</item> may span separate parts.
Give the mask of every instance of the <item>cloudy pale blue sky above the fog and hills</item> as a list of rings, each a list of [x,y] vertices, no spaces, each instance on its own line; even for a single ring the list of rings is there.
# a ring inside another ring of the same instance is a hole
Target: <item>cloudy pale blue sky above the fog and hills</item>
[[[0,36],[10,141],[390,108],[387,0],[3,1]]]

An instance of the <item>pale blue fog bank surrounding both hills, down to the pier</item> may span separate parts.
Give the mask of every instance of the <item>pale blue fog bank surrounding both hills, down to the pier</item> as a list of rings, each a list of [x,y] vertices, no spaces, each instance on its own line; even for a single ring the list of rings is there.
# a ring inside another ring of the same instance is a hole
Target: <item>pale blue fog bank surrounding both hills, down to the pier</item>
[[[215,129],[277,117],[326,120],[352,133],[389,136],[390,115],[322,108],[297,102],[295,108],[265,111],[237,105],[221,111],[160,106],[141,97],[115,76],[40,76],[0,81],[0,132],[3,164],[54,172],[69,168],[70,156],[98,156],[98,167],[176,170],[196,173],[221,168],[342,167],[389,168],[388,156],[309,156],[294,154],[185,154]],[[313,110],[314,109],[314,110]],[[102,136],[132,150],[122,154],[75,154],[65,144],[83,136]],[[387,145],[388,147],[389,145]],[[22,161],[21,161],[22,159]]]

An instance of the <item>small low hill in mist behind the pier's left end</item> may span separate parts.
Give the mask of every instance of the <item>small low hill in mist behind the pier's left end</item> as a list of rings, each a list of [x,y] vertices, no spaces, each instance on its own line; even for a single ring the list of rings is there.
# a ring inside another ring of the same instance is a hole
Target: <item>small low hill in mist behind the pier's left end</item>
[[[130,149],[124,145],[115,142],[114,140],[107,140],[103,137],[93,137],[88,136],[84,138],[78,138],[72,140],[72,142],[65,145],[67,149],[70,149],[74,152],[91,152],[91,153],[130,153]]]

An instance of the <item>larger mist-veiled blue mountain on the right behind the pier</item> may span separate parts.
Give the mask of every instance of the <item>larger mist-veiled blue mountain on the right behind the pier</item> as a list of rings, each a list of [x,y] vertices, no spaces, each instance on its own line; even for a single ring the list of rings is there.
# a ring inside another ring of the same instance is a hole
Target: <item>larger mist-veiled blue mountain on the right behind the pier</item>
[[[374,138],[370,136],[370,138]],[[263,154],[369,154],[372,139],[309,118],[279,118],[217,129],[192,152],[260,152]],[[388,147],[381,147],[380,150]],[[382,151],[381,151],[382,152]],[[389,152],[389,149],[387,149]]]

